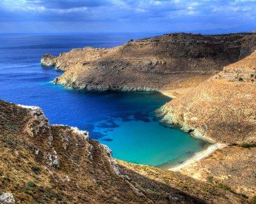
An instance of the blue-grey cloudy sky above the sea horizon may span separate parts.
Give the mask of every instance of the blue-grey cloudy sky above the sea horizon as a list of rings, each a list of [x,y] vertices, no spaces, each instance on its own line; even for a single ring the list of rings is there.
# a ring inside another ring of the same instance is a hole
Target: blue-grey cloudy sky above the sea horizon
[[[0,33],[256,30],[256,0],[1,0]]]

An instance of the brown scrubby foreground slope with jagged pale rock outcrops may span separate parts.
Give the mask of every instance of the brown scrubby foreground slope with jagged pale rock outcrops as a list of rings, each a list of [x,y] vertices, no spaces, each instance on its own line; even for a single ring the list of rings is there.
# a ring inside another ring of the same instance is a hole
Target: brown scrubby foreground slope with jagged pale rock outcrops
[[[0,101],[1,203],[247,203],[212,184],[118,161],[88,132]]]

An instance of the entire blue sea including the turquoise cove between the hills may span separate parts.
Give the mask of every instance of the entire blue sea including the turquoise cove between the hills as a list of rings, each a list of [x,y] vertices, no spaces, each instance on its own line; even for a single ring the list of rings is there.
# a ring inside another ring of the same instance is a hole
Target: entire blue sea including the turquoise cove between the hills
[[[114,47],[154,34],[0,34],[0,99],[40,106],[51,124],[90,131],[113,156],[132,163],[165,166],[204,149],[205,142],[159,122],[156,108],[170,98],[157,92],[84,92],[52,84],[61,71],[40,58],[72,48]]]

